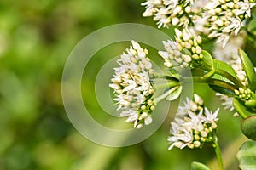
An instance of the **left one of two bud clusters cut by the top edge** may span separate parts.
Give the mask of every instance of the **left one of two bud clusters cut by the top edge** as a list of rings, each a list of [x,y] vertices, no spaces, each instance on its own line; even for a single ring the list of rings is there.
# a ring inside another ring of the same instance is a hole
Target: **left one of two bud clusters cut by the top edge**
[[[161,26],[189,26],[191,14],[195,9],[195,0],[148,0],[142,3],[146,6],[143,16],[154,16],[153,20]]]

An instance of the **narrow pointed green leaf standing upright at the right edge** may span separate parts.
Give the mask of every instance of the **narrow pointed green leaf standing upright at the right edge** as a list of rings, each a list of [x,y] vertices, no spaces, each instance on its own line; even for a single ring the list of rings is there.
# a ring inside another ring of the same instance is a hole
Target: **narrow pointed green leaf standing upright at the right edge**
[[[251,90],[253,90],[253,92],[255,92],[255,90],[256,90],[256,73],[254,70],[253,63],[243,50],[239,49],[238,54],[241,59],[241,65],[243,67],[243,70],[247,74],[248,83],[249,83],[248,88],[250,88]]]

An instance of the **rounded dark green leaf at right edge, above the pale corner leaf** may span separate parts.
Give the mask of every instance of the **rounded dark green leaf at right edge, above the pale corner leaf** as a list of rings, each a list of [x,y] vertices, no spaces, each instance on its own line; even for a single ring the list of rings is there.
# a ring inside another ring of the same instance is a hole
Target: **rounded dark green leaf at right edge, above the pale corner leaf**
[[[241,122],[241,132],[248,139],[256,140],[256,115],[248,116]]]

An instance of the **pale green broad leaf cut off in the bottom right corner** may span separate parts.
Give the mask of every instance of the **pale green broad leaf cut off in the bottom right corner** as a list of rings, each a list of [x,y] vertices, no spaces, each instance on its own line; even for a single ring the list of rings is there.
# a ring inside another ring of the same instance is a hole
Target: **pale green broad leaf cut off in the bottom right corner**
[[[241,170],[256,169],[256,142],[247,141],[236,154]]]

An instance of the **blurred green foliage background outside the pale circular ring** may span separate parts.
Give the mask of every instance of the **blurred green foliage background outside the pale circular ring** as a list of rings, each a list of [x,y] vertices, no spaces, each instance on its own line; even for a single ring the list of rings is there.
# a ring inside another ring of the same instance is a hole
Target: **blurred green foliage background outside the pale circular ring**
[[[154,135],[124,148],[90,142],[67,119],[61,100],[61,74],[68,54],[83,37],[104,26],[134,22],[156,27],[151,18],[142,17],[142,2],[0,1],[1,170],[189,169],[191,161],[202,161],[215,168],[210,146],[202,150],[167,150],[166,138],[177,110],[175,102],[166,122]],[[128,45],[118,44],[97,55],[113,57]],[[92,93],[95,72],[103,64],[103,60],[90,61],[90,78],[84,80],[83,93],[84,100],[91,101],[90,110],[98,113],[96,118],[105,122],[108,116],[102,113]],[[212,110],[220,106],[207,86],[196,85],[195,92],[205,96]],[[220,117],[218,136],[226,155],[225,166],[238,169],[234,154],[243,140],[241,120],[224,110]]]

